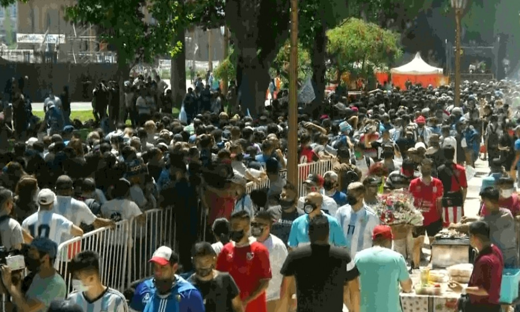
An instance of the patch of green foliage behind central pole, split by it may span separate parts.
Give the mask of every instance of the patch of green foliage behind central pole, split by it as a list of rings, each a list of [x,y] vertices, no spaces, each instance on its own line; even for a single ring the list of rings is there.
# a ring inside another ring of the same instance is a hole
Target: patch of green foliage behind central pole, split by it
[[[271,64],[271,75],[276,74],[276,70],[280,71],[282,83],[289,82],[289,61],[291,55],[291,42],[287,40],[280,48],[275,60]],[[302,43],[298,43],[298,80],[303,80],[311,73],[310,54]]]

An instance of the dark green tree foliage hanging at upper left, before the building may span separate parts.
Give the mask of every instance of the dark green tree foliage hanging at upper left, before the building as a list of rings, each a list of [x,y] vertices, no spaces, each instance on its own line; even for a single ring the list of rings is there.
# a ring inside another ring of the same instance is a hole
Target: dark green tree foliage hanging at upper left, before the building
[[[153,19],[145,19],[145,11]],[[118,62],[132,66],[179,53],[183,45],[173,38],[193,19],[191,11],[191,5],[174,0],[79,0],[66,9],[66,17],[96,25],[101,39],[118,53]]]

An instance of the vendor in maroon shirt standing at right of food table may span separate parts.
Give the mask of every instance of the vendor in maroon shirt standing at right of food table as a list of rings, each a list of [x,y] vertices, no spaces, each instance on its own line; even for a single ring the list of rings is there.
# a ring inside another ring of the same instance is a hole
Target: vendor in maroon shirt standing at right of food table
[[[500,285],[504,262],[500,249],[491,244],[489,225],[483,221],[470,224],[470,244],[478,250],[473,272],[467,287],[449,281],[448,287],[458,293],[469,295],[464,311],[498,312],[501,310]]]

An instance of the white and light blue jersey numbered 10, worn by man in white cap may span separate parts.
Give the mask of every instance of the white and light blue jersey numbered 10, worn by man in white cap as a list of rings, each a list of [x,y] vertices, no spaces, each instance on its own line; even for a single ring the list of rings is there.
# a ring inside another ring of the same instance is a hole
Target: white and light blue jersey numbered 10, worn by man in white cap
[[[70,233],[72,222],[60,214],[41,210],[25,218],[22,228],[34,238],[45,237],[59,246],[63,242],[62,234]]]

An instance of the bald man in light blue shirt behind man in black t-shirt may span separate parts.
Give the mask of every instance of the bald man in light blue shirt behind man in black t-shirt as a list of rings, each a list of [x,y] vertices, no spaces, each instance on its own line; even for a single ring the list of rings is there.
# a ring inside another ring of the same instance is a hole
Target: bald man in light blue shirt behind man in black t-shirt
[[[296,248],[310,244],[309,241],[309,222],[312,218],[317,215],[324,215],[329,219],[330,234],[329,241],[331,245],[340,247],[346,246],[345,237],[341,231],[340,224],[337,220],[321,211],[321,204],[323,203],[323,196],[318,192],[310,192],[305,197],[305,203],[303,206],[304,215],[297,217],[291,226],[289,232],[289,248]]]

